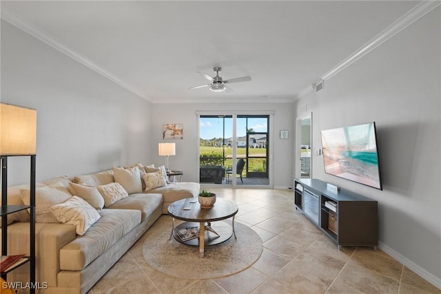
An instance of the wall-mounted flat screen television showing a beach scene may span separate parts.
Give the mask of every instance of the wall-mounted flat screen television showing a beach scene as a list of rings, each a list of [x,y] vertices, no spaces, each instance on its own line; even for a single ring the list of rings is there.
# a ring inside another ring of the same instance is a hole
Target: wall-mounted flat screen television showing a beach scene
[[[375,123],[321,131],[325,173],[382,190]]]

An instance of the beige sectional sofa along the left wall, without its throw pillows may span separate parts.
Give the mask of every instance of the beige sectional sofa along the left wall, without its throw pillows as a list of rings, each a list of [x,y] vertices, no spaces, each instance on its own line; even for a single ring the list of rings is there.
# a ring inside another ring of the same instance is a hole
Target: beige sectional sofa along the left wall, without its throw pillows
[[[108,170],[74,178],[63,176],[39,182],[36,197],[37,216],[39,207],[42,209],[45,205],[39,204],[39,193],[43,191],[40,191],[39,187],[52,189],[61,183],[72,194],[72,189],[69,189],[74,186],[72,182],[98,187],[99,190],[100,187],[114,185],[112,183],[116,182],[115,178],[114,170]],[[64,189],[63,187],[57,189]],[[23,204],[23,190],[26,188],[25,185],[8,188],[8,204]],[[199,184],[195,182],[172,182],[149,191],[129,193],[125,198],[99,209],[99,220],[83,235],[79,235],[76,231],[78,227],[72,224],[37,222],[36,280],[40,284],[45,282],[48,285],[48,288],[40,289],[37,293],[86,293],[161,214],[167,213],[167,207],[171,202],[196,197],[199,188]],[[83,199],[90,202],[87,197]],[[28,211],[8,216],[9,254],[28,253],[29,220]],[[12,271],[8,280],[28,281],[27,268],[28,266],[23,266]]]

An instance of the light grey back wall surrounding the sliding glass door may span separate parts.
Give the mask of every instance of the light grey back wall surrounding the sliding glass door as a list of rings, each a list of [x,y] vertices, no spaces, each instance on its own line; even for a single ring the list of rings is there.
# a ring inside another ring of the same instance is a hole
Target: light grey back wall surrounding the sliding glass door
[[[223,95],[225,93],[219,93]],[[176,143],[176,156],[170,156],[170,169],[182,170],[185,172],[186,181],[196,181],[198,169],[197,147],[198,139],[198,120],[197,111],[274,111],[274,125],[270,125],[270,132],[274,134],[273,162],[274,162],[274,187],[292,187],[293,169],[290,162],[293,161],[294,148],[294,103],[196,103],[196,104],[154,104],[152,110],[152,146],[158,148],[158,143],[165,142],[162,138],[162,127],[165,123],[182,123],[183,140],[167,140]],[[280,129],[289,130],[289,139],[280,139]],[[275,151],[274,151],[275,150]],[[271,156],[270,156],[271,157]],[[163,165],[164,160],[157,156],[154,160],[155,165]]]

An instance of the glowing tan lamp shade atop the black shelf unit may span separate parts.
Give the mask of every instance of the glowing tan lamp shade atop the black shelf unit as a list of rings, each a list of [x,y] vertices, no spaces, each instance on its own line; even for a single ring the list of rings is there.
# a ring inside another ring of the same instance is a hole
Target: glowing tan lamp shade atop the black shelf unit
[[[0,155],[37,153],[37,110],[0,103]]]

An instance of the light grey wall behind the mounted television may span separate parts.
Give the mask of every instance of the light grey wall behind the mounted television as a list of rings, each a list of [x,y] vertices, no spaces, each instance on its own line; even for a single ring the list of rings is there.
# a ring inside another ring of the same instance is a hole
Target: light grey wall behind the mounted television
[[[380,248],[441,288],[440,8],[325,81],[297,104],[320,130],[375,121],[384,190],[313,176],[378,200]]]

